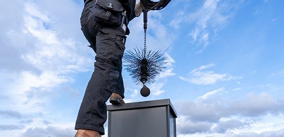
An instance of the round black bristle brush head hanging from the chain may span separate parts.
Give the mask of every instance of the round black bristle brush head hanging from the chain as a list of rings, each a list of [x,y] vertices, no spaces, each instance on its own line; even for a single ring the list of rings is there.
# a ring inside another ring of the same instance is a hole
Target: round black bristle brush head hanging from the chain
[[[130,74],[135,84],[142,86],[144,80],[147,84],[154,83],[156,76],[163,71],[166,57],[161,50],[144,51],[134,48],[134,51],[126,51],[123,57],[124,67]]]

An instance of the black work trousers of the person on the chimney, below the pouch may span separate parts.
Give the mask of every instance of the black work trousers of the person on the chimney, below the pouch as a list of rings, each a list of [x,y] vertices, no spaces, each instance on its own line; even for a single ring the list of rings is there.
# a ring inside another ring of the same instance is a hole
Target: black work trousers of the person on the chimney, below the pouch
[[[108,27],[95,22],[93,14],[91,10],[84,9],[81,17],[81,29],[96,53],[96,62],[75,129],[95,130],[104,135],[103,124],[107,119],[105,102],[113,92],[124,98],[121,59],[126,37],[121,27]]]

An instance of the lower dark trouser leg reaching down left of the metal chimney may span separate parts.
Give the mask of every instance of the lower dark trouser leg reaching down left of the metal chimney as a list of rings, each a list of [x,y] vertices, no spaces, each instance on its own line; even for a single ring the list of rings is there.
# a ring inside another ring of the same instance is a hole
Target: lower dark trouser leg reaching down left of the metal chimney
[[[107,117],[105,116],[106,106],[100,91],[106,80],[101,70],[95,68],[79,109],[75,129],[95,130],[104,135],[103,124]]]

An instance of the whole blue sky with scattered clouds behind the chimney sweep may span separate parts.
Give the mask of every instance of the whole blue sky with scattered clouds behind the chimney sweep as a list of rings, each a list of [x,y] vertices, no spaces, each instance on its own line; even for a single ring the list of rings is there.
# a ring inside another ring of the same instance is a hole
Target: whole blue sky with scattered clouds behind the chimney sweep
[[[146,98],[123,70],[125,101],[170,98],[178,137],[283,137],[283,7],[282,0],[172,0],[149,12],[147,46],[170,46],[167,67]],[[1,2],[2,137],[74,135],[95,62],[80,31],[82,8],[83,0]],[[142,17],[129,27],[127,50],[142,47]]]

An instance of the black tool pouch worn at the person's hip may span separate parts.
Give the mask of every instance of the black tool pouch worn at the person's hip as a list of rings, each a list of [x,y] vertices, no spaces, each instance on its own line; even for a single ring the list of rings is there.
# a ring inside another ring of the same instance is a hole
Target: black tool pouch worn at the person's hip
[[[98,23],[118,27],[122,22],[124,9],[118,0],[96,0],[95,6],[90,10]]]

